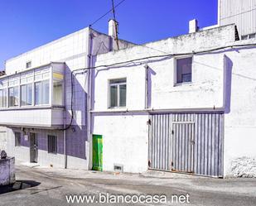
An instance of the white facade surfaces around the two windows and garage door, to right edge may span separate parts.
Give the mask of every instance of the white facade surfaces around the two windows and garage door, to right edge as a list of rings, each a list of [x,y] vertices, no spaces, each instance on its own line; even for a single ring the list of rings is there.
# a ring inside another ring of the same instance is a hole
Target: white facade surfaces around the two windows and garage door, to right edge
[[[114,165],[123,165],[126,172],[147,170],[147,123],[152,113],[225,113],[223,175],[237,175],[234,167],[244,160],[255,162],[256,49],[227,47],[196,54],[239,44],[234,41],[234,26],[223,26],[98,55],[92,113],[93,133],[103,136],[103,170],[114,170]],[[184,55],[146,58],[165,54]],[[186,56],[192,56],[192,82],[176,84],[176,59]],[[100,67],[120,62],[125,63]],[[145,66],[149,69],[147,79]],[[109,80],[123,78],[127,84],[126,107],[109,108]],[[254,167],[252,163],[248,170]]]

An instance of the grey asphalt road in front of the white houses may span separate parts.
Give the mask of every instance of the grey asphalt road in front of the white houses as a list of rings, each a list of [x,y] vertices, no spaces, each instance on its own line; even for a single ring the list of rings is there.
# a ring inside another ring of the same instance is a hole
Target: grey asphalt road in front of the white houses
[[[222,180],[159,172],[118,175],[18,165],[17,183],[12,187],[17,190],[10,189],[0,188],[0,205],[256,205],[256,179]],[[66,195],[76,194],[94,195],[94,203],[68,204]],[[109,201],[119,199],[119,203],[99,204],[107,201],[108,194]],[[122,197],[117,195],[128,197],[127,203],[123,204]],[[159,195],[159,199],[155,196],[157,199],[152,202],[154,195]],[[135,203],[139,197],[141,202]],[[157,203],[160,199],[162,202]]]

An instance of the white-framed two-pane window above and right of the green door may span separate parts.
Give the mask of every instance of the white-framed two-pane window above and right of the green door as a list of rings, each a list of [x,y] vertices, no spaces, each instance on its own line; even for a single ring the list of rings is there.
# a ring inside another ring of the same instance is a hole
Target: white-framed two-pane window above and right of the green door
[[[109,108],[126,107],[126,78],[109,80]]]

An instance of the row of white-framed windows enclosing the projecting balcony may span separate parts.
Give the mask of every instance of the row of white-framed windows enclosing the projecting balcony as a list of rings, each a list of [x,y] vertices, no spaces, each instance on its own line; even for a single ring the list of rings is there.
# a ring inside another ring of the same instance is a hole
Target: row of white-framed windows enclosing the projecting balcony
[[[45,66],[0,79],[0,109],[31,106],[63,106],[64,75]],[[56,75],[54,75],[56,74]]]

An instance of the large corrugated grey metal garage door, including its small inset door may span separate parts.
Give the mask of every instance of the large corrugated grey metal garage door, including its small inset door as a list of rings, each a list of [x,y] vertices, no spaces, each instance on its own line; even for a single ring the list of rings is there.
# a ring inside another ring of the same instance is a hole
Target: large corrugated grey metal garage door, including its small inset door
[[[223,113],[150,116],[148,168],[223,176]]]

